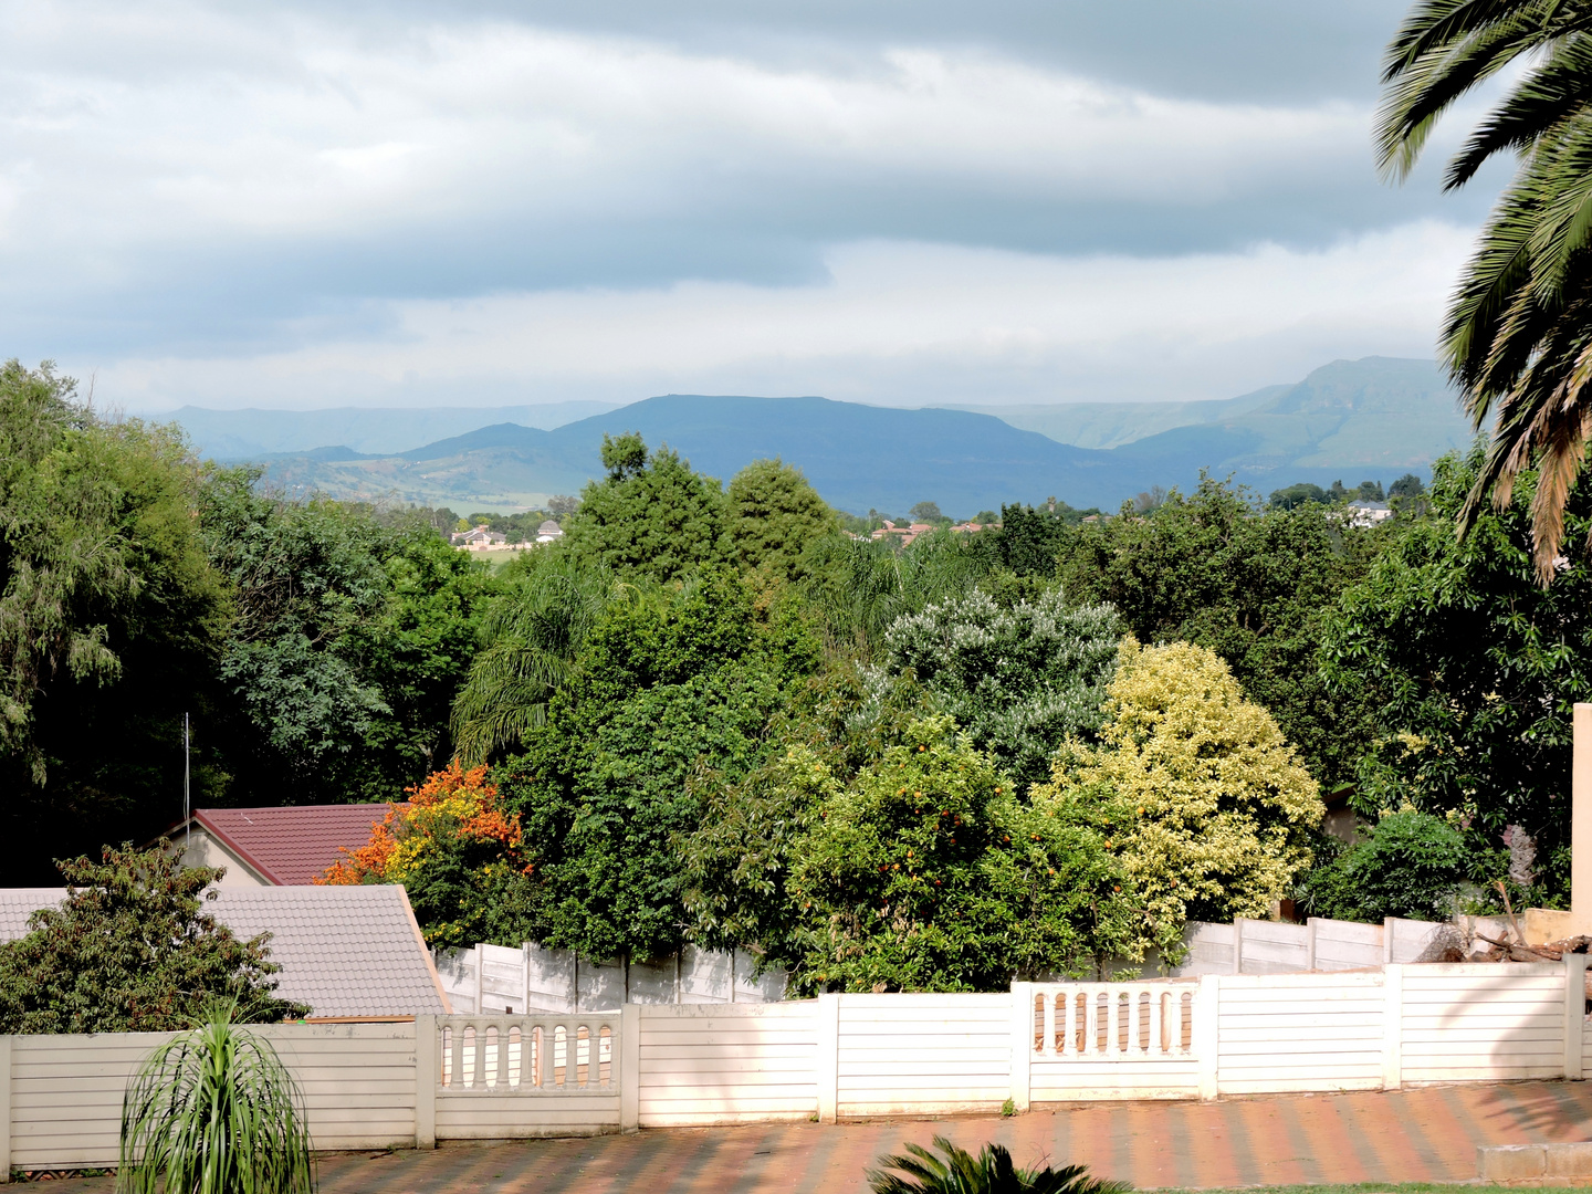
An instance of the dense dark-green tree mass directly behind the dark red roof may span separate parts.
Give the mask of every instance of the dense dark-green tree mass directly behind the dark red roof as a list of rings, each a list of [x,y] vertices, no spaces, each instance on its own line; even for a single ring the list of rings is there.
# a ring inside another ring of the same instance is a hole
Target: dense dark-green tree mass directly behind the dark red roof
[[[396,799],[452,753],[498,584],[428,527],[282,501],[218,470],[201,524],[234,594],[212,737],[228,802]]]

